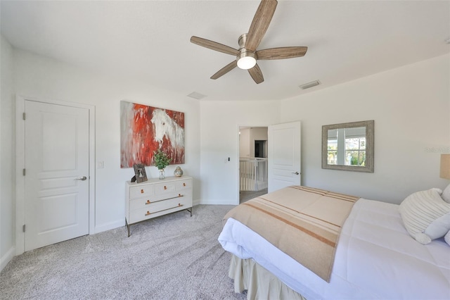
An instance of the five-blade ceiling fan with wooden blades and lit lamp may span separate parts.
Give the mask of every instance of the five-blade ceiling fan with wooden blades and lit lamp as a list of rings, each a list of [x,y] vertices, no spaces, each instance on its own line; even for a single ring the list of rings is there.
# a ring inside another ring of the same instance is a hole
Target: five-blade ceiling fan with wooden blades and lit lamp
[[[274,16],[277,4],[278,2],[276,0],[261,1],[255,16],[253,17],[248,33],[240,35],[238,39],[239,49],[234,49],[230,46],[210,41],[209,39],[195,36],[191,37],[191,42],[193,44],[198,44],[199,46],[208,49],[236,56],[236,60],[217,71],[217,73],[211,76],[211,79],[217,79],[238,66],[238,68],[248,70],[248,73],[250,73],[250,76],[252,76],[256,83],[261,83],[264,81],[264,77],[262,76],[261,69],[256,63],[258,59],[295,58],[304,56],[304,54],[307,53],[308,47],[305,46],[288,46],[257,50],[257,47],[259,46],[262,37],[264,37],[270,21]]]

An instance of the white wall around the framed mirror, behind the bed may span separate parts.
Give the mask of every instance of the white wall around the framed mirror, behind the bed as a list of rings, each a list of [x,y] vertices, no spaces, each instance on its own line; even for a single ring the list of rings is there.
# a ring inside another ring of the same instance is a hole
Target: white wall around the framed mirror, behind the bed
[[[281,102],[281,121],[302,120],[302,185],[399,203],[443,189],[449,153],[450,57],[364,77]],[[322,125],[375,120],[375,173],[321,169]]]

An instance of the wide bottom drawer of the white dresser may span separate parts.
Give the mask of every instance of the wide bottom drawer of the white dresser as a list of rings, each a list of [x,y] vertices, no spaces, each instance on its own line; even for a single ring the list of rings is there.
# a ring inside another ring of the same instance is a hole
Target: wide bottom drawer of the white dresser
[[[192,206],[190,197],[179,197],[164,201],[158,201],[148,205],[148,207],[135,209],[129,213],[129,223],[136,223],[142,220],[158,217],[166,213],[181,211]]]

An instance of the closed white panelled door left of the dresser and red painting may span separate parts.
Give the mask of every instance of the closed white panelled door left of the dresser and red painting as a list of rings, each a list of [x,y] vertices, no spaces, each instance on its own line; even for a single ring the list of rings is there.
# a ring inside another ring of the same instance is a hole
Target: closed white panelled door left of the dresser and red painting
[[[89,109],[25,101],[25,251],[89,234]]]

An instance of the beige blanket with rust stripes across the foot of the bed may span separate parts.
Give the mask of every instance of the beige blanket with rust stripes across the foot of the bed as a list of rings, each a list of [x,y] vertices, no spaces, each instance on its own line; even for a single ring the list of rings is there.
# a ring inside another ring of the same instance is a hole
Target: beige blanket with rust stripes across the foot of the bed
[[[329,282],[340,230],[359,197],[292,186],[233,208],[233,218]]]

